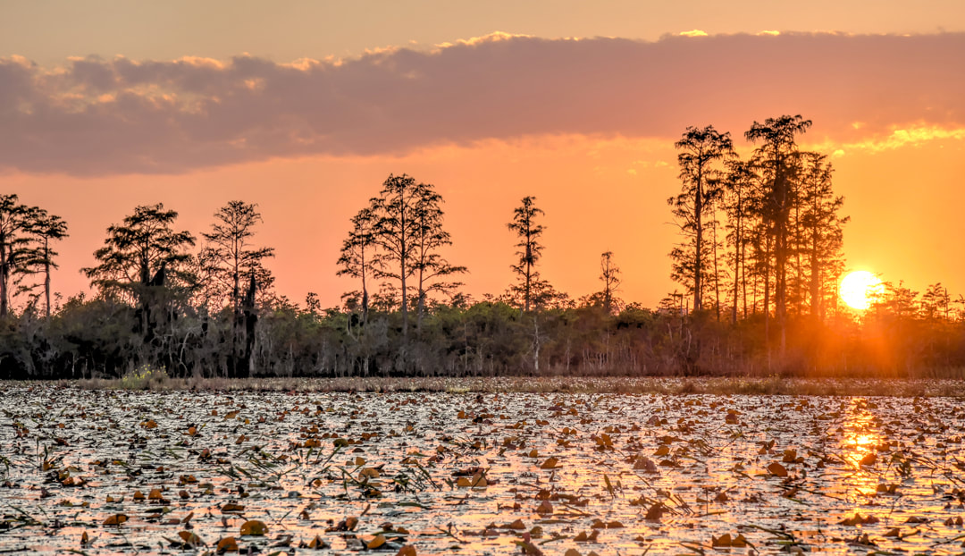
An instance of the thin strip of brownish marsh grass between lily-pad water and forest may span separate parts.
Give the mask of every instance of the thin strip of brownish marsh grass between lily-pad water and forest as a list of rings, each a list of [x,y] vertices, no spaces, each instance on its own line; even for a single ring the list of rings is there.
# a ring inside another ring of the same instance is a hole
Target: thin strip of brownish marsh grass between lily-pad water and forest
[[[744,396],[965,397],[961,379],[874,379],[767,377],[343,377],[343,378],[173,378],[163,371],[120,379],[64,380],[85,390],[220,392],[531,392],[582,394],[672,394]]]

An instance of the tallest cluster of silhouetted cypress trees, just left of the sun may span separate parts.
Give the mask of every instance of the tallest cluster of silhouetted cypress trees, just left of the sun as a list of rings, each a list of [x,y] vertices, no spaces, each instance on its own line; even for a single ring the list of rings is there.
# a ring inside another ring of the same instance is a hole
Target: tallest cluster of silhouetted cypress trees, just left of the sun
[[[691,307],[710,307],[720,320],[730,306],[733,323],[738,312],[760,313],[767,342],[773,315],[782,352],[789,316],[823,321],[836,308],[844,269],[848,217],[831,163],[797,148],[811,125],[799,115],[755,122],[744,133],[756,146],[747,160],[729,132],[688,127],[676,142],[682,188],[668,200],[682,236],[670,253],[672,276]]]

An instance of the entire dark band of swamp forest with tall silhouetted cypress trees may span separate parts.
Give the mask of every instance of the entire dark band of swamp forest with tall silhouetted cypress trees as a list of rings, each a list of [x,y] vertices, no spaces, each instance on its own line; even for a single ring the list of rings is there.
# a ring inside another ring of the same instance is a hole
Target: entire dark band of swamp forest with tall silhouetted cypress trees
[[[599,290],[573,299],[539,273],[538,199],[508,208],[514,281],[473,299],[443,199],[391,175],[346,226],[340,307],[274,292],[258,207],[232,201],[207,231],[141,206],[106,231],[82,271],[93,296],[51,302],[68,223],[0,195],[0,378],[375,375],[960,376],[965,298],[941,284],[885,283],[869,310],[843,306],[848,221],[827,156],[798,148],[811,122],[782,116],[744,133],[688,127],[676,142],[679,285],[657,307],[620,297],[619,256],[600,255]],[[621,254],[632,257],[633,254]],[[56,296],[55,296],[56,297]],[[56,299],[55,299],[56,301]]]

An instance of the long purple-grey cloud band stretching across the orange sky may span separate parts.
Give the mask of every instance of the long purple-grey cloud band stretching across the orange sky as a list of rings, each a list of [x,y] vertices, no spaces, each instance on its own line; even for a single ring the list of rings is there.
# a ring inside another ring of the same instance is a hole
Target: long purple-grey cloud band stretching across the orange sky
[[[176,174],[537,135],[674,138],[706,124],[739,136],[798,113],[814,121],[814,141],[894,143],[896,129],[965,128],[961,52],[961,33],[499,33],[290,64],[88,57],[42,68],[14,56],[0,58],[0,169]]]

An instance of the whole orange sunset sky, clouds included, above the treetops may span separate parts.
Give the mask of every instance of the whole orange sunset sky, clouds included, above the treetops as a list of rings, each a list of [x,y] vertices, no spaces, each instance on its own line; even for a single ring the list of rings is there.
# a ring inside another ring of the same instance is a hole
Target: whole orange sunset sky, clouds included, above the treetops
[[[163,202],[200,235],[257,203],[276,287],[339,304],[348,219],[389,174],[446,200],[466,291],[504,292],[524,196],[540,271],[621,296],[679,288],[667,198],[688,125],[801,114],[845,197],[849,268],[965,292],[965,4],[0,3],[0,192],[63,216],[54,289],[87,288],[106,228]]]

